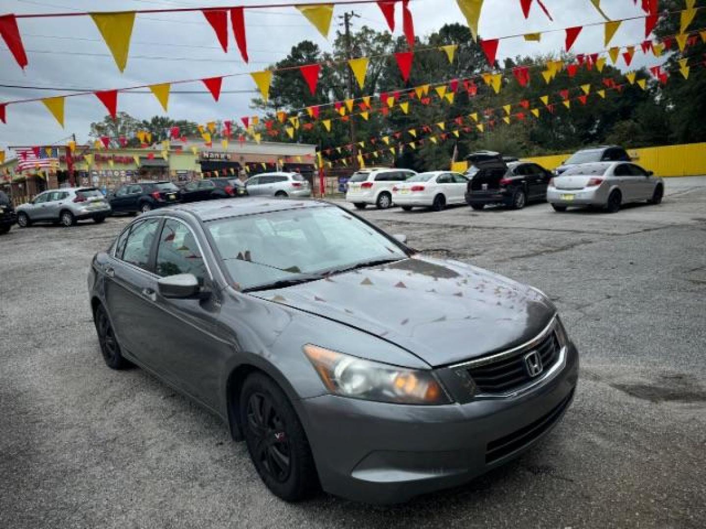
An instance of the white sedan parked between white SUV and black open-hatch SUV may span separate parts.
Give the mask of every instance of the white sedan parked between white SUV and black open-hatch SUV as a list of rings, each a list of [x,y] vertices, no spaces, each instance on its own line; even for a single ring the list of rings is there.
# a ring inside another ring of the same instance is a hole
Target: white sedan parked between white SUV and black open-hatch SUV
[[[447,205],[466,203],[468,179],[451,171],[429,171],[408,178],[393,187],[393,202],[409,211],[414,206],[441,211]]]

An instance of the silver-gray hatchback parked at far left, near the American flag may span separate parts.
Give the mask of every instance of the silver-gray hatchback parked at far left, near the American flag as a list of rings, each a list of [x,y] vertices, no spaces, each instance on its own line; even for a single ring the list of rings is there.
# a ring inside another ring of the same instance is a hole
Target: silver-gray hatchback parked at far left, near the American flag
[[[92,219],[98,224],[110,212],[110,205],[97,188],[54,189],[18,206],[17,224],[26,228],[35,222],[52,222],[68,227],[83,219]]]

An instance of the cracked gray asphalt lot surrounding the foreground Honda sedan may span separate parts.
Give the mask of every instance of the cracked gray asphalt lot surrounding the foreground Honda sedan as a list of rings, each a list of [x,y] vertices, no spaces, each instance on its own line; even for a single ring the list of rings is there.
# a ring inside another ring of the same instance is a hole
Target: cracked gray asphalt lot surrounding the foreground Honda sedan
[[[612,215],[362,214],[555,301],[582,366],[551,436],[400,506],[285,504],[217,418],[141,370],[104,366],[85,278],[128,218],[16,227],[0,238],[0,527],[706,526],[706,177]]]

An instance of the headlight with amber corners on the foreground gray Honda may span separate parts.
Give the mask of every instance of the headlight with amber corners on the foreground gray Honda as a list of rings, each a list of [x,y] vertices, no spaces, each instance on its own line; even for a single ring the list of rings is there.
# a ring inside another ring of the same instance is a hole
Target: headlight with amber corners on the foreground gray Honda
[[[326,389],[333,394],[396,404],[448,404],[431,371],[363,360],[330,349],[304,346]]]

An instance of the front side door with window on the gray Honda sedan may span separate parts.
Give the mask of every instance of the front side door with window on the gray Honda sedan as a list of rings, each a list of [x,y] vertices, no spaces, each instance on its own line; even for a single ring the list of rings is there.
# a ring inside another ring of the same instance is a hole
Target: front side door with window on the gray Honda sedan
[[[161,277],[193,274],[199,284],[213,288],[213,279],[192,229],[166,219],[157,247],[155,272]],[[220,303],[208,299],[169,299],[157,293],[159,309],[152,320],[152,340],[158,346],[155,368],[186,393],[218,408],[220,368],[229,353],[227,342],[214,334]]]

